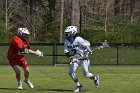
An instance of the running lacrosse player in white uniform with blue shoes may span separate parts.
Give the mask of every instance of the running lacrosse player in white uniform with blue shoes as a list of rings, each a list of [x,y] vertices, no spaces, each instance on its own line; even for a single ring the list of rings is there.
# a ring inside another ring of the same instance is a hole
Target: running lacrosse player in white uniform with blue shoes
[[[90,65],[88,55],[92,54],[90,43],[82,37],[77,36],[76,26],[68,26],[64,32],[66,36],[64,41],[64,52],[70,59],[69,75],[76,84],[76,90],[74,92],[80,92],[83,87],[75,74],[75,71],[79,66],[82,67],[84,76],[92,79],[94,84],[98,87],[99,76],[93,75],[88,70]]]

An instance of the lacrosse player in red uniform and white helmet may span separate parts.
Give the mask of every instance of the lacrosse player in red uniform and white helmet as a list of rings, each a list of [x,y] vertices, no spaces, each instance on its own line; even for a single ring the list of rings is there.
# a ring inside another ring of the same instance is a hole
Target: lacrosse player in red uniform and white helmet
[[[43,53],[41,51],[34,51],[30,49],[29,35],[30,32],[27,28],[18,28],[17,35],[11,39],[7,53],[7,58],[13,70],[15,71],[16,79],[18,81],[18,89],[20,90],[23,89],[21,82],[20,67],[22,67],[24,71],[24,82],[28,84],[30,88],[34,88],[33,84],[28,79],[29,66],[26,61],[26,58],[24,57],[24,54],[32,54],[37,55],[39,57],[43,57]]]

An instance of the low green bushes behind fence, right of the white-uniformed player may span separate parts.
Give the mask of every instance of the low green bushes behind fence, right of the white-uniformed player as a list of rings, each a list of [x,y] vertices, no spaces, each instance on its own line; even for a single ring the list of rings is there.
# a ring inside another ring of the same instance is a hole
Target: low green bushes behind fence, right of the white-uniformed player
[[[107,33],[103,30],[83,29],[82,35],[91,42],[100,42],[104,40],[119,43],[140,42],[140,22],[134,24],[116,22],[114,31],[108,31]]]

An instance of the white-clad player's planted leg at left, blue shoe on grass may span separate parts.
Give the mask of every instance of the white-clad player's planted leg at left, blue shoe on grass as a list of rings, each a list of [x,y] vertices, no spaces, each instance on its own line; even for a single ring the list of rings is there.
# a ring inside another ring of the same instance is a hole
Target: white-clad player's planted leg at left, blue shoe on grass
[[[70,63],[69,64],[69,75],[72,78],[72,80],[75,82],[76,84],[76,90],[74,92],[79,92],[82,90],[82,84],[79,83],[78,78],[75,74],[76,69],[78,68],[78,64],[77,63]]]

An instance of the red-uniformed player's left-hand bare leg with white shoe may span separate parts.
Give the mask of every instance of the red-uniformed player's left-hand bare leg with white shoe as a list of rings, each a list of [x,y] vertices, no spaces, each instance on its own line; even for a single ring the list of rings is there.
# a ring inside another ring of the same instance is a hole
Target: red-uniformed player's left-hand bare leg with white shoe
[[[21,80],[20,79],[21,77],[20,77],[20,69],[19,69],[19,66],[18,65],[15,65],[12,68],[15,71],[15,74],[16,74],[16,79],[18,81],[18,89],[23,89],[22,88],[22,82],[20,81]]]

